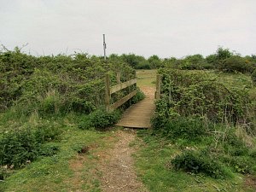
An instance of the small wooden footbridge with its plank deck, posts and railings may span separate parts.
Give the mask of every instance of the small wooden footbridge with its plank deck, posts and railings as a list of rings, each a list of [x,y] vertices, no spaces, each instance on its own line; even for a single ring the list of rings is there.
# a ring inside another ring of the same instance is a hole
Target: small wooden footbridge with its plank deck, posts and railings
[[[115,108],[119,108],[120,105],[129,101],[132,96],[136,95],[136,91],[132,91],[127,96],[120,99],[118,102],[110,104],[111,94],[116,91],[125,89],[132,84],[137,84],[137,79],[131,79],[125,83],[119,83],[113,87],[109,84],[109,77],[106,76],[106,106],[108,111],[112,111]],[[125,110],[122,118],[116,124],[116,126],[123,126],[128,128],[150,128],[150,120],[154,114],[154,100],[160,98],[160,76],[156,79],[156,89],[149,86],[140,87],[143,90],[146,98],[141,102],[131,105],[130,108]]]

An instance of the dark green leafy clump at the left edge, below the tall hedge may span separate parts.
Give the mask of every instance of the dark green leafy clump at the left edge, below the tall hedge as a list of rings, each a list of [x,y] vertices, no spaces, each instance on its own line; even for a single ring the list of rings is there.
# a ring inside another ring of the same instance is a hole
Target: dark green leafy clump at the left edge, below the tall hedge
[[[39,155],[55,154],[57,147],[54,144],[43,145],[59,137],[61,131],[56,125],[38,125],[38,127],[22,128],[6,131],[0,139],[1,166],[25,166],[26,163],[36,160]]]

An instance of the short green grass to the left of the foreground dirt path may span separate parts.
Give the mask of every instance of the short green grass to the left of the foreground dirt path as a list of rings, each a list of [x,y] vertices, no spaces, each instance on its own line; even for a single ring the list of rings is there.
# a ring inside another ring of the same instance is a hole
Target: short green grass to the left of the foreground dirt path
[[[71,119],[73,117],[63,119],[67,126],[61,142],[57,143],[60,152],[16,170],[0,183],[0,191],[100,191],[96,175],[101,173],[96,170],[97,156],[93,153],[111,147],[113,141],[107,142],[105,138],[112,136],[113,131],[82,131]],[[79,157],[78,151],[84,146],[96,147]],[[71,162],[79,158],[83,158],[83,165],[73,170]]]

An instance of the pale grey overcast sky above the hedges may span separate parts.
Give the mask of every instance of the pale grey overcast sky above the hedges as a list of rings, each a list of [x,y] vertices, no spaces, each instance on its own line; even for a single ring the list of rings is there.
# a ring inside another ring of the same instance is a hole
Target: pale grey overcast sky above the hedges
[[[74,51],[182,57],[218,46],[256,54],[256,0],[0,0],[0,44],[33,55]]]

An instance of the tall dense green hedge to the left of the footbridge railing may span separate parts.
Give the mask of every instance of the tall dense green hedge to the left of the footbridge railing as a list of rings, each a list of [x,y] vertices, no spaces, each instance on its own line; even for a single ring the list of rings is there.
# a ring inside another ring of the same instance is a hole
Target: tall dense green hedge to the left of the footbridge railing
[[[122,82],[135,77],[134,69],[119,61],[86,54],[36,57],[20,49],[0,52],[0,68],[0,111],[20,105],[26,115],[35,109],[40,115],[90,113],[104,103],[105,73],[112,84],[117,72]]]

